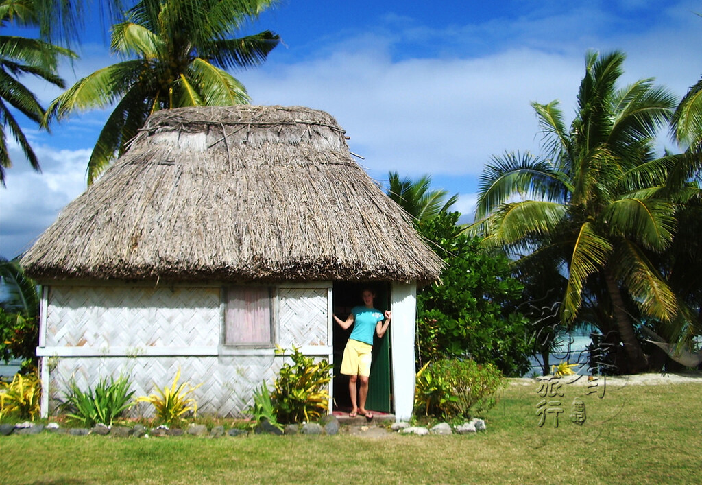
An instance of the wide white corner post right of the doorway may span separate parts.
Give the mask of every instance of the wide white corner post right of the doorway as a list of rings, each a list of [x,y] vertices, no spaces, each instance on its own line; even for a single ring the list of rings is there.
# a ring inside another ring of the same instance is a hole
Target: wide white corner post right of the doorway
[[[392,283],[392,382],[395,420],[407,421],[414,408],[414,332],[417,318],[416,283]]]

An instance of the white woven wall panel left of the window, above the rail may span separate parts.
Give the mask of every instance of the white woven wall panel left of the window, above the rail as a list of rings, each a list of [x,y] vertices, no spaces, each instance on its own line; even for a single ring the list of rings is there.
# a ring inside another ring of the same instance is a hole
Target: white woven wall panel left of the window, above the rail
[[[48,347],[194,347],[220,340],[218,288],[51,287]]]

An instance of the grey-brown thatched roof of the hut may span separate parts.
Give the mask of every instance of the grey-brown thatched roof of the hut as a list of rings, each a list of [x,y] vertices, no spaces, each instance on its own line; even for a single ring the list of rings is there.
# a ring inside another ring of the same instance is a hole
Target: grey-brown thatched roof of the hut
[[[344,133],[309,108],[159,111],[22,264],[40,280],[437,279]]]

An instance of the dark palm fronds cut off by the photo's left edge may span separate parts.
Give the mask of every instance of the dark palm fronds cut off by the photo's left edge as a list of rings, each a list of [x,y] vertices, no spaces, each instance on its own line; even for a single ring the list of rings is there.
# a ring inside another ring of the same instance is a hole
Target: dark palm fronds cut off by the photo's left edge
[[[0,4],[0,25],[9,22],[18,25],[33,25],[35,22],[31,0],[6,0]],[[13,135],[29,164],[41,172],[37,155],[29,145],[27,136],[11,108],[39,124],[44,117],[37,96],[20,82],[22,75],[33,75],[55,86],[65,87],[63,80],[56,75],[59,56],[73,56],[66,49],[47,44],[37,39],[2,35],[0,36],[0,183],[5,186],[5,169],[12,166],[8,153],[5,129]]]

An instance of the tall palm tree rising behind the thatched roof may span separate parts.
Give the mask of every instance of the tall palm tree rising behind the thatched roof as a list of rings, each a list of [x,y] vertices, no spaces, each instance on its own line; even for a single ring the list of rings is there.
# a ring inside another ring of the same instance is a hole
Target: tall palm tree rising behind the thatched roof
[[[130,58],[80,79],[49,106],[46,122],[117,103],[90,160],[88,183],[124,153],[154,111],[249,102],[226,69],[262,63],[279,37],[231,38],[272,0],[142,0],[112,27],[111,48]]]

